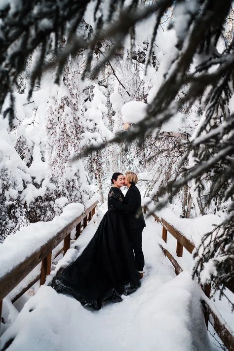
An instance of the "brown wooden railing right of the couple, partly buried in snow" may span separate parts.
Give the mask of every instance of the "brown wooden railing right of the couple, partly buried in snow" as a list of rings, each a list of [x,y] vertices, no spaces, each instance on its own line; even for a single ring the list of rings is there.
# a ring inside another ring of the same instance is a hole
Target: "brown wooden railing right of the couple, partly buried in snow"
[[[143,211],[144,211],[144,213],[149,211],[150,214],[155,218],[155,220],[158,223],[161,223],[161,225],[162,225],[162,240],[165,242],[165,244],[167,242],[167,233],[170,233],[177,240],[177,244],[176,244],[177,257],[183,256],[183,248],[185,248],[190,253],[193,252],[193,250],[195,248],[194,243],[192,243],[188,238],[186,238],[179,230],[174,228],[165,219],[159,218],[154,212],[150,211],[147,206],[143,207]],[[170,262],[172,263],[172,265],[175,269],[175,273],[177,275],[179,273],[181,273],[183,271],[183,269],[180,266],[180,264],[177,262],[174,255],[172,255],[165,246],[162,246],[160,244],[159,244],[159,246],[163,250],[165,256],[167,256],[168,259],[170,260]],[[234,292],[234,281],[232,280],[232,282],[229,282],[228,284],[226,284],[226,287],[228,289],[230,289],[232,292]],[[207,297],[209,297],[210,284],[202,286],[202,289],[203,289],[205,295]],[[219,316],[217,316],[215,311],[212,310],[212,308],[210,307],[209,304],[207,304],[206,301],[202,300],[201,303],[202,303],[202,306],[204,308],[204,317],[205,317],[205,321],[206,321],[206,326],[208,325],[208,321],[209,321],[212,324],[215,331],[217,332],[217,334],[219,335],[219,337],[222,340],[222,342],[224,343],[224,345],[226,346],[226,348],[229,351],[234,351],[234,334],[233,334],[233,332],[230,330],[229,327],[226,327],[225,323],[222,323],[220,321]],[[209,316],[211,316],[211,318],[209,318]]]

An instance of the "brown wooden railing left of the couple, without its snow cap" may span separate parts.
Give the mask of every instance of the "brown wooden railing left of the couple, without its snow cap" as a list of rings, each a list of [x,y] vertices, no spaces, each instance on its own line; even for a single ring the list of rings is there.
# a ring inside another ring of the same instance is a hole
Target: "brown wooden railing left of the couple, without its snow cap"
[[[12,302],[22,296],[35,282],[40,281],[44,284],[46,276],[51,271],[52,250],[64,241],[63,248],[56,255],[63,251],[63,254],[70,248],[71,231],[76,228],[76,239],[79,237],[81,230],[87,226],[95,213],[98,201],[92,204],[87,210],[81,213],[77,218],[70,222],[66,227],[56,233],[49,241],[40,246],[35,252],[28,256],[23,262],[19,263],[10,272],[0,278],[0,321],[3,298],[22,281],[40,262],[40,275],[25,286],[22,291],[14,297]],[[27,243],[25,243],[27,245]],[[9,257],[9,259],[12,259]]]

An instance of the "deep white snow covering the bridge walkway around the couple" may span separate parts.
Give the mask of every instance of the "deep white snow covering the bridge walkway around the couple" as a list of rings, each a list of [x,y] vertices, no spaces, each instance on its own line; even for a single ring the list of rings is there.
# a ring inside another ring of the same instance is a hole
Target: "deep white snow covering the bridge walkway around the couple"
[[[99,211],[75,242],[79,252],[101,217]],[[0,348],[14,339],[8,351],[216,350],[206,332],[199,285],[188,272],[175,276],[157,244],[161,226],[153,217],[146,221],[145,276],[136,292],[90,311],[74,298],[41,286],[1,336]]]

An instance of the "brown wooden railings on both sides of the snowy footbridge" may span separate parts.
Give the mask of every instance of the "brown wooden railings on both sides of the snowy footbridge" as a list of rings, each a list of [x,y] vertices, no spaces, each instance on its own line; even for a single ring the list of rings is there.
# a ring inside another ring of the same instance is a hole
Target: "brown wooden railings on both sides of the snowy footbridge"
[[[40,275],[35,277],[27,286],[24,286],[20,293],[18,293],[13,299],[12,302],[16,301],[20,296],[22,296],[36,281],[40,281],[40,285],[44,284],[46,276],[50,274],[51,271],[51,261],[58,254],[63,252],[64,254],[70,248],[71,242],[71,232],[76,230],[76,239],[79,237],[81,231],[87,226],[87,223],[91,221],[95,209],[97,207],[97,202],[92,204],[87,210],[83,211],[77,218],[75,218],[71,223],[66,225],[62,230],[57,232],[50,240],[45,242],[40,246],[35,252],[33,252],[29,257],[27,257],[23,262],[18,262],[15,267],[0,277],[0,311],[2,306],[2,299],[9,294],[9,292],[19,284],[36,266],[41,264]],[[144,207],[144,213],[149,211],[147,206]],[[155,220],[162,225],[162,239],[164,244],[160,245],[164,254],[168,257],[172,263],[175,273],[180,274],[182,272],[182,267],[177,261],[176,257],[182,257],[183,249],[185,248],[188,252],[192,254],[195,246],[190,240],[188,240],[181,232],[174,228],[170,223],[165,219],[159,218],[155,213],[151,213]],[[170,233],[176,240],[176,255],[169,252],[169,249],[166,246],[167,235]],[[63,243],[63,247],[59,248],[59,243]],[[57,249],[56,249],[57,248]],[[9,257],[9,260],[11,257]],[[234,284],[229,284],[228,288],[234,292]],[[214,329],[219,335],[220,339],[227,347],[228,350],[234,351],[234,334],[226,323],[222,320],[220,315],[212,308],[212,304],[209,303],[209,292],[210,286],[203,287],[204,289],[204,298],[202,299],[201,304],[204,308],[204,317],[206,324],[208,320],[212,323]],[[205,296],[206,295],[206,296]],[[0,351],[7,350],[11,345],[12,339],[1,348]]]

